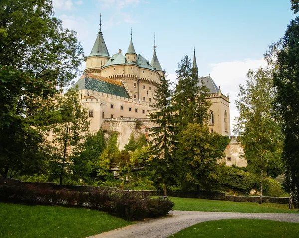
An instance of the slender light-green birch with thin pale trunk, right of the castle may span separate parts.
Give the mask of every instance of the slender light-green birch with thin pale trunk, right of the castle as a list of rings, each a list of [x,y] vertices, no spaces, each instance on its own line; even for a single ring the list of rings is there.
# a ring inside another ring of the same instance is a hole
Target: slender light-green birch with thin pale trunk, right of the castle
[[[248,167],[259,172],[260,204],[263,202],[263,181],[265,172],[282,172],[281,127],[273,117],[274,88],[272,71],[259,68],[247,73],[245,85],[239,85],[236,108],[240,116],[236,119],[234,132],[244,147]]]

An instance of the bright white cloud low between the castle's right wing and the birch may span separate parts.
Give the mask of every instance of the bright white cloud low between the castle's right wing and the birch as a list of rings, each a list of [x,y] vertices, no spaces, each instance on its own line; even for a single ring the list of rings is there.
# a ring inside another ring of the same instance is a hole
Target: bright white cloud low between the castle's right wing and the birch
[[[245,84],[247,78],[246,74],[249,69],[256,70],[259,67],[267,66],[267,62],[262,59],[244,61],[223,62],[211,65],[211,77],[217,86],[220,86],[221,93],[227,95],[229,93],[230,104],[230,124],[231,133],[233,132],[233,125],[235,117],[239,116],[236,109],[235,100],[239,93],[239,84]]]

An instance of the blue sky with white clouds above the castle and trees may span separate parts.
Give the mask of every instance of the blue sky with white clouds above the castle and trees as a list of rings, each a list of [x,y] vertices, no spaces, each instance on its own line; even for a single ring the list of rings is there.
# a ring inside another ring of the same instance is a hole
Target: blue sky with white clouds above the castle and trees
[[[86,56],[99,31],[100,13],[110,56],[127,51],[132,28],[136,53],[150,62],[155,34],[159,62],[173,82],[178,62],[185,55],[193,59],[195,47],[199,75],[210,74],[221,92],[229,93],[232,134],[239,84],[245,84],[249,69],[267,65],[268,45],[283,37],[296,17],[289,0],[52,1],[55,16],[77,32]]]

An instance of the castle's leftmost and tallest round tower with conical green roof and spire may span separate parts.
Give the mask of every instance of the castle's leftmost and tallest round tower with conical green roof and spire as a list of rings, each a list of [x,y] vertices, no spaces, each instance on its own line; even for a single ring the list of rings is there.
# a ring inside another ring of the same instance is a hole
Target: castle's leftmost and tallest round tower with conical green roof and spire
[[[103,38],[102,14],[100,14],[100,29],[89,56],[86,59],[85,72],[100,75],[101,67],[109,60],[110,55]]]

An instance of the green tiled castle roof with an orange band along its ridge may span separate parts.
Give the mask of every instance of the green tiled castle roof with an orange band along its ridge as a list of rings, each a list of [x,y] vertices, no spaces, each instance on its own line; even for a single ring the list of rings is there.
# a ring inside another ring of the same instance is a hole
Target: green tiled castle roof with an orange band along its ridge
[[[112,94],[120,97],[130,98],[123,84],[113,79],[97,76],[94,74],[85,73],[75,83],[74,87],[78,85],[79,90],[88,89],[97,92]]]

